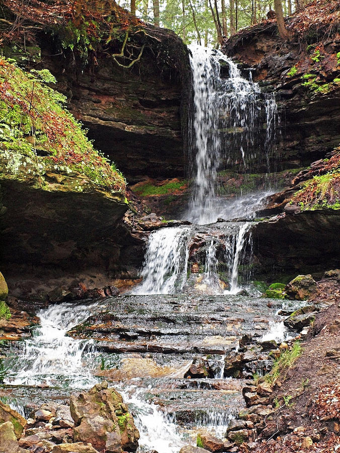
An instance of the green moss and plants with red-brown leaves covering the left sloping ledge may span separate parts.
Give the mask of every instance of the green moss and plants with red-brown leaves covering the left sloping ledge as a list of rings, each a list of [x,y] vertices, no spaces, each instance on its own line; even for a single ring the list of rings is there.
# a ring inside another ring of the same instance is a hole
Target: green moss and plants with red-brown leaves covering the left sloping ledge
[[[37,149],[42,149],[51,163],[69,166],[100,186],[124,191],[121,173],[94,149],[82,125],[62,107],[66,98],[47,83],[55,83],[47,69],[24,72],[0,58],[0,151],[10,149],[36,158]]]

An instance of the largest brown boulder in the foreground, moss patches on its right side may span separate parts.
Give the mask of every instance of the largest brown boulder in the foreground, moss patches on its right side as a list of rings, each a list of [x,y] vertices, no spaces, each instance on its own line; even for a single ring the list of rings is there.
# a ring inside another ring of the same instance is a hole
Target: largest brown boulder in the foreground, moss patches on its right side
[[[122,397],[107,382],[70,398],[74,440],[90,442],[98,451],[135,451],[140,438]]]

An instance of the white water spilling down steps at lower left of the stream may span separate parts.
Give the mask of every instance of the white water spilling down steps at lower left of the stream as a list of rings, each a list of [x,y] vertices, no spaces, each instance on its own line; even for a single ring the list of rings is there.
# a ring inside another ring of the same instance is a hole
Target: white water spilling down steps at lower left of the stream
[[[12,385],[48,385],[84,389],[97,381],[85,356],[91,358],[91,342],[75,340],[65,334],[96,311],[99,302],[77,305],[64,303],[40,310],[40,326],[25,340],[21,362],[5,383]]]

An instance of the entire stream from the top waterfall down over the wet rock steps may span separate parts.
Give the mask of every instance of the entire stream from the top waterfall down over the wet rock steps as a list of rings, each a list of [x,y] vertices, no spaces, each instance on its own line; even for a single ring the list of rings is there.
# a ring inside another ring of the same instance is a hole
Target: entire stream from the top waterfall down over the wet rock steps
[[[107,379],[129,405],[141,452],[178,453],[201,427],[223,436],[244,406],[244,379],[230,375],[228,357],[244,335],[288,335],[278,315],[283,301],[259,297],[251,283],[252,222],[275,188],[226,202],[217,178],[222,161],[250,171],[261,160],[270,172],[275,98],[219,51],[192,46],[191,53],[193,184],[185,217],[192,224],[150,235],[143,281],[129,294],[39,311],[32,338],[12,342],[2,386],[3,399],[27,416]],[[236,217],[242,221],[228,221]],[[204,378],[189,371],[202,360]],[[267,362],[249,361],[242,372],[251,378]]]

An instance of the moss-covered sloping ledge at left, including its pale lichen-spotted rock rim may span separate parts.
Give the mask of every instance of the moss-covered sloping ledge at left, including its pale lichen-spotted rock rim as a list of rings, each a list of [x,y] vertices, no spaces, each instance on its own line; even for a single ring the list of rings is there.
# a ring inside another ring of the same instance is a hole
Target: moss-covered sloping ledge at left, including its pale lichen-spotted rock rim
[[[123,176],[94,149],[51,83],[48,70],[26,72],[0,58],[0,178],[28,178],[42,190],[124,194]]]

